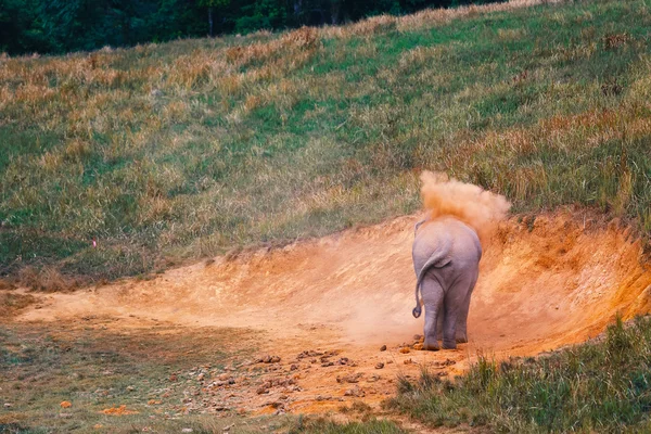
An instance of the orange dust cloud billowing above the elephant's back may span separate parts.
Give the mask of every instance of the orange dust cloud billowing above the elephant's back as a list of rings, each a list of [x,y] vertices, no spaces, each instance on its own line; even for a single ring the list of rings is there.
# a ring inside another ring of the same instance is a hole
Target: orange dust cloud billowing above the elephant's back
[[[430,218],[456,217],[477,232],[482,244],[490,238],[496,225],[507,217],[511,207],[505,196],[449,178],[443,173],[425,170],[420,179],[421,197]]]

